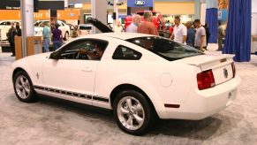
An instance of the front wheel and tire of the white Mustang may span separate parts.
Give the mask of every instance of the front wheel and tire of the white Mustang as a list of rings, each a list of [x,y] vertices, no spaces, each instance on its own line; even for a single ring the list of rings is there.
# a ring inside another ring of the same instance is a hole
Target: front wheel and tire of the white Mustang
[[[14,75],[13,88],[15,95],[19,101],[24,103],[34,102],[36,99],[34,87],[28,74],[24,71],[19,71]]]

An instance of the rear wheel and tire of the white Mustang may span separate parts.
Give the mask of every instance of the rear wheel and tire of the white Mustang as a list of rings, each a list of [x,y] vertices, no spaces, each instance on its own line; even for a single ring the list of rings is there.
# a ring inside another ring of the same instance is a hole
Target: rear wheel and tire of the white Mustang
[[[113,102],[113,110],[117,126],[127,134],[146,134],[155,122],[154,108],[135,90],[120,92]]]

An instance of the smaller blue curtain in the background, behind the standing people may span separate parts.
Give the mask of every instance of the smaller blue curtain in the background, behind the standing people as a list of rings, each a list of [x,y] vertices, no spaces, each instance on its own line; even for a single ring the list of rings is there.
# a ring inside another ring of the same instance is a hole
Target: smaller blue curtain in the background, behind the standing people
[[[218,10],[216,8],[206,9],[206,19],[209,28],[209,39],[208,42],[217,42],[217,31],[218,31]]]

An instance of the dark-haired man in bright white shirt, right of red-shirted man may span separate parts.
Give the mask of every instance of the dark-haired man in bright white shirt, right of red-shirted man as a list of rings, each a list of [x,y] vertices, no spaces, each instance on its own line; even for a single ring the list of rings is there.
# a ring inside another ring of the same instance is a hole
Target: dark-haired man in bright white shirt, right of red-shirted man
[[[175,27],[173,34],[170,35],[170,39],[174,40],[175,42],[185,43],[187,28],[185,25],[180,23],[180,18],[178,16],[174,19]]]

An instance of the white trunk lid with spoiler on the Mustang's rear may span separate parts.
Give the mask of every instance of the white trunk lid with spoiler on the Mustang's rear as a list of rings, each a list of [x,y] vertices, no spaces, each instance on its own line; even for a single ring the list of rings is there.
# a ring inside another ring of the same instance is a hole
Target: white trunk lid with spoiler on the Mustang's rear
[[[215,85],[231,80],[234,77],[233,68],[234,55],[201,55],[197,57],[186,57],[181,59],[187,65],[200,67],[201,71],[212,70],[215,78]]]

